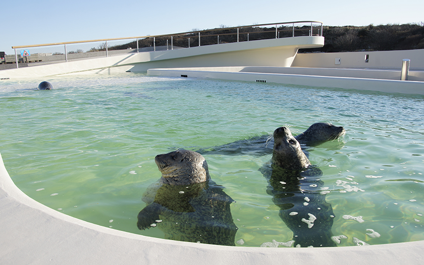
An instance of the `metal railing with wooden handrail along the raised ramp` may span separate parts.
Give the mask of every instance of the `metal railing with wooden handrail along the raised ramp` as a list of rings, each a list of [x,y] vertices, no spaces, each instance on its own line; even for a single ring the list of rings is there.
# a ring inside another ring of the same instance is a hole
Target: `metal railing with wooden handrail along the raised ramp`
[[[204,45],[254,41],[297,36],[322,36],[323,23],[294,21],[193,30],[165,35],[68,41],[12,46],[15,55],[5,57],[6,64],[19,66],[69,62],[94,57],[109,57],[145,51],[174,50]]]

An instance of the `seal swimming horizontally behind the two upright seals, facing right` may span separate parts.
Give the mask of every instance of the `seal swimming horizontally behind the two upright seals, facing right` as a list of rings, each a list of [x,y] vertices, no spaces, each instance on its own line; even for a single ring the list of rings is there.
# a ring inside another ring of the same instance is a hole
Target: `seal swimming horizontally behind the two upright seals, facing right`
[[[314,123],[306,131],[295,136],[302,147],[320,145],[326,141],[338,139],[345,134],[342,126],[330,123]],[[251,155],[266,155],[273,152],[274,139],[270,135],[255,136],[249,139],[238,140],[232,143],[195,149],[201,154],[227,154],[237,155],[240,153]]]

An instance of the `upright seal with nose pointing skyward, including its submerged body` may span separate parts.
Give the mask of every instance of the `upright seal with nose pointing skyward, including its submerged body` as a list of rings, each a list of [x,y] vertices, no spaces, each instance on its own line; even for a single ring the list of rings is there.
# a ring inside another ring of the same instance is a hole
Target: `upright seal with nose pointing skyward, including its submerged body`
[[[293,232],[294,246],[336,246],[333,208],[321,192],[322,171],[311,165],[288,128],[274,131],[273,156],[259,171],[268,180],[267,193],[279,206],[280,218]]]

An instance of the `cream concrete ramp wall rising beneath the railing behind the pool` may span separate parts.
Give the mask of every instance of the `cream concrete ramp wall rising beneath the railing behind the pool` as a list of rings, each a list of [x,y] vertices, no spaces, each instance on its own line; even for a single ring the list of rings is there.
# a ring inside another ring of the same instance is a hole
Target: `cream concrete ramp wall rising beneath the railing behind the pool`
[[[146,72],[150,68],[212,66],[290,67],[299,48],[322,47],[322,36],[264,39],[174,50],[139,52],[67,63],[37,65],[0,71],[0,80],[90,73]]]

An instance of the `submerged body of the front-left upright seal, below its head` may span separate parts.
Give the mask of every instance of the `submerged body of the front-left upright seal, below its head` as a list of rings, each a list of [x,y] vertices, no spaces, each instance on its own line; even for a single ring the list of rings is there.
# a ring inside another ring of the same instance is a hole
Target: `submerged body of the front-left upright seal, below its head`
[[[234,246],[237,227],[230,204],[234,200],[212,180],[189,185],[154,183],[143,194],[138,214],[140,230],[155,227],[165,239]]]

